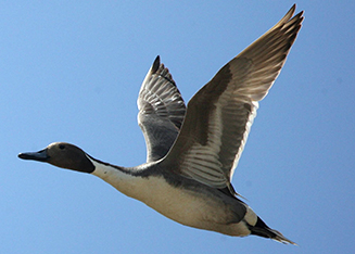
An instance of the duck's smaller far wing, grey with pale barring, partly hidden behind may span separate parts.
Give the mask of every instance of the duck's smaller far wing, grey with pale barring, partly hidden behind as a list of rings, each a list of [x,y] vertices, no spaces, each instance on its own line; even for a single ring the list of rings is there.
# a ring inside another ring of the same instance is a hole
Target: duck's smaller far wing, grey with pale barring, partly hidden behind
[[[147,144],[147,162],[154,162],[172,148],[181,127],[186,105],[169,71],[156,56],[139,91],[138,124]]]

